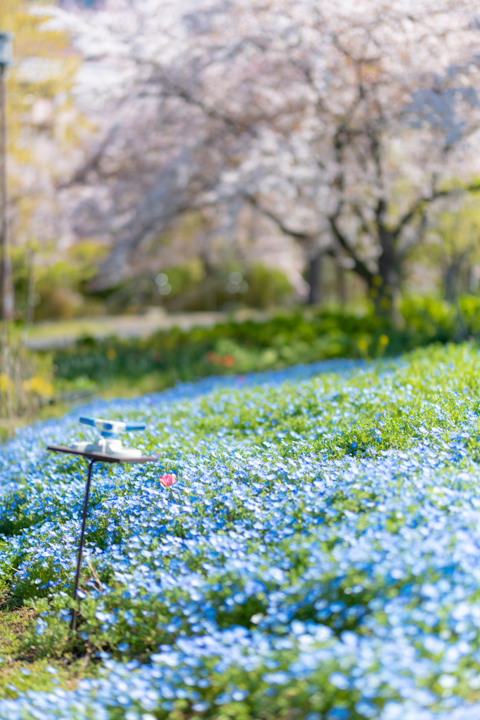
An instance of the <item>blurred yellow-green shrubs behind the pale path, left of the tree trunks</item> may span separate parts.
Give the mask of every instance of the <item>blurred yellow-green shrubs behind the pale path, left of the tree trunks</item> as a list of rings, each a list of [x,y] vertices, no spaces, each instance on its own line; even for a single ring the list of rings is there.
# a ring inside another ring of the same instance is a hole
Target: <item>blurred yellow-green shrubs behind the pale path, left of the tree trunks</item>
[[[55,259],[53,246],[30,240],[12,251],[17,317],[66,320],[88,315],[142,312],[266,308],[289,303],[293,288],[284,273],[254,264],[239,271],[215,269],[207,275],[199,258],[160,273],[135,276],[114,289],[90,292],[89,282],[108,248],[81,240]],[[232,282],[231,279],[237,282]],[[29,303],[33,309],[29,313]]]

